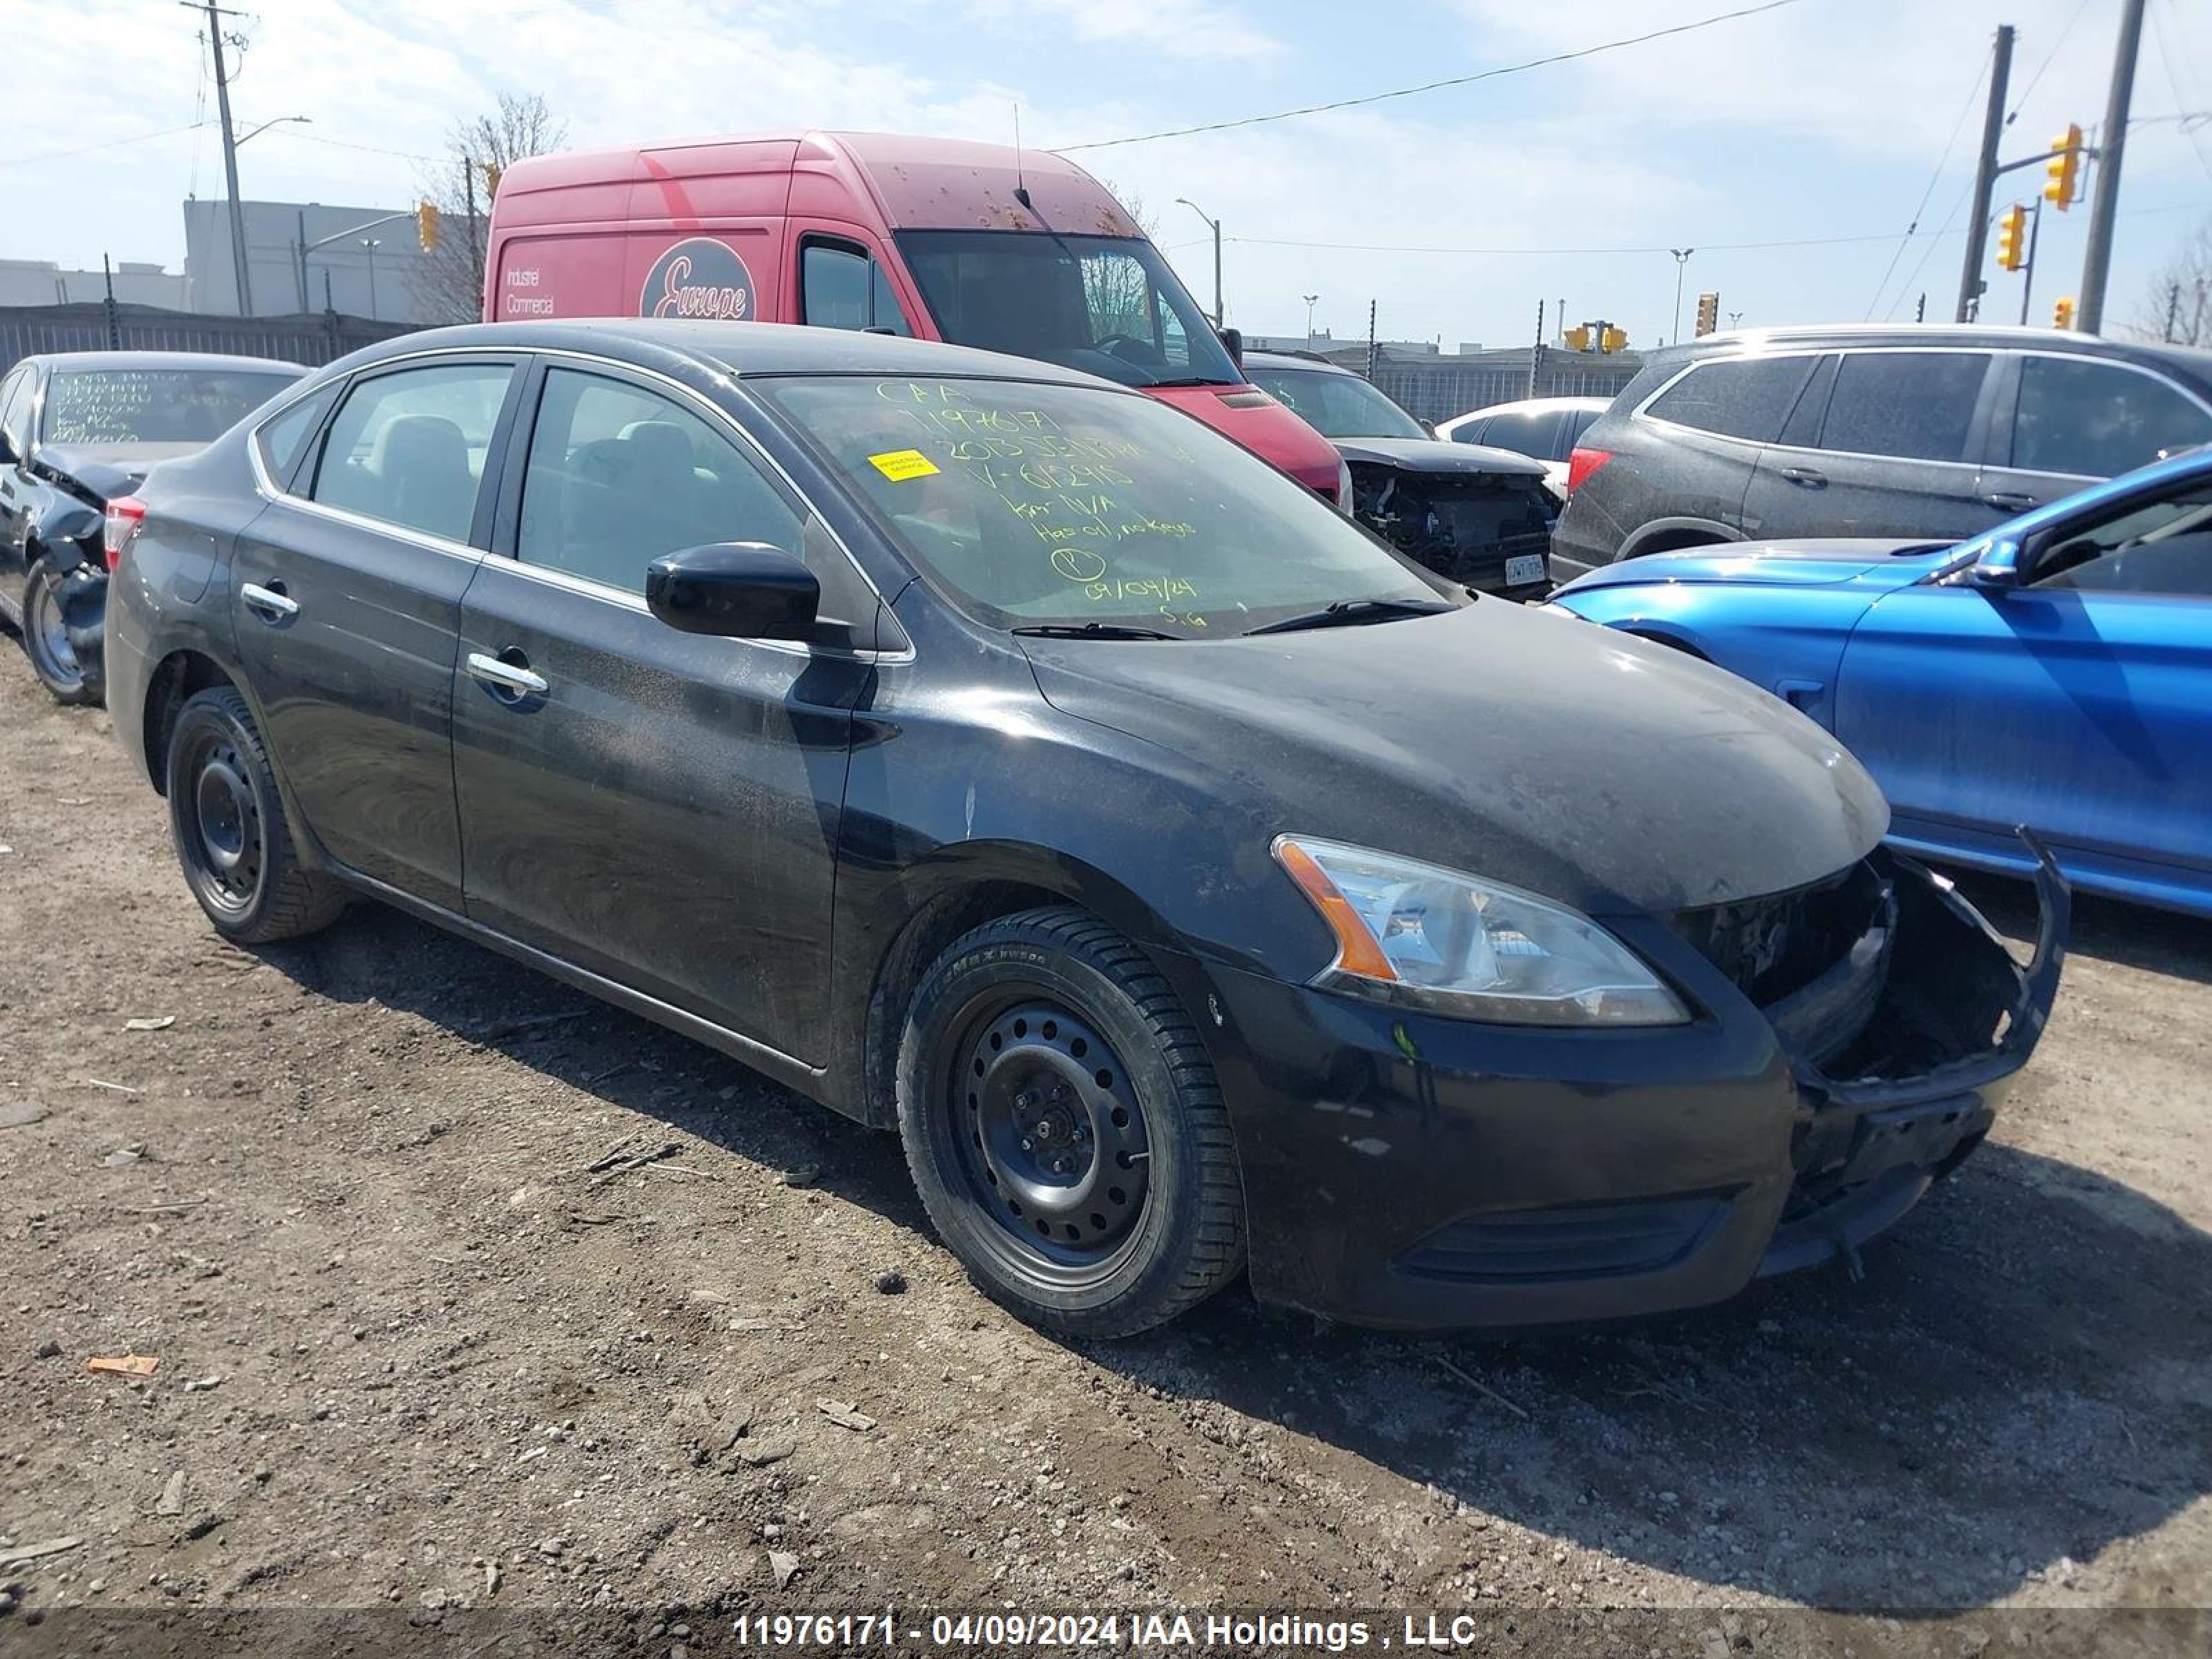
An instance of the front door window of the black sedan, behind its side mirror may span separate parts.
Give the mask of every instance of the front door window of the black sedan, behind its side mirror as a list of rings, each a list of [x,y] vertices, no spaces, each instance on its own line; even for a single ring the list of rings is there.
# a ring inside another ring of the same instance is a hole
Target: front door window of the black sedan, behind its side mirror
[[[646,591],[646,566],[710,542],[803,553],[801,515],[728,436],[672,398],[549,369],[522,473],[515,557]]]

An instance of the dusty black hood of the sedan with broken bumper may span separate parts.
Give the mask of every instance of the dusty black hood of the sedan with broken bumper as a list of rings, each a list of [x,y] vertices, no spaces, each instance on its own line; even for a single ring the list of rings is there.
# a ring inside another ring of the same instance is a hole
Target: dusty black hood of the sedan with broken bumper
[[[1478,599],[1243,639],[1022,646],[1053,708],[1172,748],[1274,832],[1595,916],[1801,887],[1889,825],[1858,761],[1796,710],[1566,613]]]

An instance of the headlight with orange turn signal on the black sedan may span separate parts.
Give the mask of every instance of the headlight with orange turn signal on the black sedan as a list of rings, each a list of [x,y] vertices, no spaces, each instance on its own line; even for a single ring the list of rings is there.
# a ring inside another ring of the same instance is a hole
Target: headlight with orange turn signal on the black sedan
[[[1498,1024],[1690,1018],[1626,945],[1566,905],[1336,841],[1276,836],[1274,856],[1336,933],[1316,984]]]

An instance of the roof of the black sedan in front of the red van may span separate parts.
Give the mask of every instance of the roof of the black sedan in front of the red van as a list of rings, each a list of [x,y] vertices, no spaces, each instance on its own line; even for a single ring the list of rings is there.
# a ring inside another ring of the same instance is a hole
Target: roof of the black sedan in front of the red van
[[[726,323],[672,316],[593,316],[555,323],[462,323],[400,334],[354,352],[332,367],[367,367],[429,349],[584,352],[630,358],[688,358],[737,378],[779,374],[942,374],[975,380],[1035,380],[1106,392],[1128,387],[1082,369],[1062,369],[971,345],[911,341],[898,334],[860,334],[805,323]],[[1137,396],[1137,394],[1130,394]]]

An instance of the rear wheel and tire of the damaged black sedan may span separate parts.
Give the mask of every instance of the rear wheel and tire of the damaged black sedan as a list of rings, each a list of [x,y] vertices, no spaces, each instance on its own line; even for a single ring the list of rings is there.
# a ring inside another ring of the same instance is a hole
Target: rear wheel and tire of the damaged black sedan
[[[234,945],[314,933],[345,909],[338,883],[301,867],[261,732],[230,686],[195,692],[177,710],[168,827],[186,887]]]

